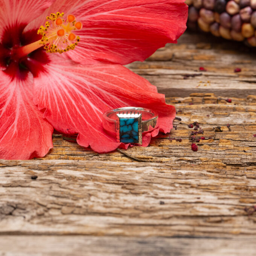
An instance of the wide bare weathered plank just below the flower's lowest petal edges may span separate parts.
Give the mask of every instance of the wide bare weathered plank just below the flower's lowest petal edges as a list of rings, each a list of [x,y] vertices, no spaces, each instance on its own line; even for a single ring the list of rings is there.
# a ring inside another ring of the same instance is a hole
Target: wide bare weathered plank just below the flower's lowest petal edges
[[[0,235],[256,236],[256,216],[244,210],[256,204],[255,167],[77,160],[0,165]]]

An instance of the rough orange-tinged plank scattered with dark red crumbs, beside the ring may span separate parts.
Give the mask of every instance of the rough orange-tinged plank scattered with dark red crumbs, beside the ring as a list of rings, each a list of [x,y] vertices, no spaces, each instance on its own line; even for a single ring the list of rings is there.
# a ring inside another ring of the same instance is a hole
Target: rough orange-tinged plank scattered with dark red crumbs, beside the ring
[[[181,121],[174,121],[177,130],[173,129],[170,136],[182,141],[170,141],[169,135],[160,135],[151,141],[149,147],[134,147],[126,152],[152,162],[172,162],[178,166],[188,163],[203,165],[204,168],[212,163],[222,167],[256,165],[256,138],[253,137],[256,134],[256,97],[232,98],[232,103],[221,98],[213,94],[168,98],[167,102],[175,105],[177,116],[181,118]],[[189,105],[191,103],[194,105]],[[204,130],[204,134],[196,138],[206,138],[197,143],[197,152],[191,150],[190,133],[193,129],[187,126],[195,121]],[[230,130],[227,123],[231,125]],[[223,131],[215,132],[213,128],[216,126],[221,126]],[[117,151],[108,154],[86,151],[58,135],[53,142],[54,148],[43,159],[133,161]]]

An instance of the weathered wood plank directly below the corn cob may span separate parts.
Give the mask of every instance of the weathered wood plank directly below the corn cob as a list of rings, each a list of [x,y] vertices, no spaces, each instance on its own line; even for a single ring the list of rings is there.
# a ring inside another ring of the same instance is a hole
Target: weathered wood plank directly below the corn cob
[[[168,44],[145,62],[127,67],[148,79],[167,97],[206,92],[246,97],[256,94],[255,53],[255,49],[241,43],[186,32],[178,44]],[[201,72],[199,67],[207,72]],[[236,67],[242,72],[234,73]],[[196,76],[183,79],[193,74]]]

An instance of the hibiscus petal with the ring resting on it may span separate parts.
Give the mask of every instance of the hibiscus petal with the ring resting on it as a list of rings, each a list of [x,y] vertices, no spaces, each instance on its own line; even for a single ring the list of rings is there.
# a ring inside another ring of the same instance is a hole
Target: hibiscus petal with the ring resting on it
[[[120,143],[102,127],[102,113],[106,110],[134,106],[155,110],[159,115],[160,130],[172,128],[175,108],[165,103],[165,96],[146,79],[118,64],[76,65],[72,61],[51,55],[51,62],[41,66],[30,60],[30,66],[42,72],[34,73],[35,104],[44,111],[44,117],[55,130],[78,135],[81,146],[94,151],[108,152]],[[158,130],[152,131],[156,136]],[[149,137],[143,146],[149,144]],[[145,135],[144,135],[145,136]],[[127,145],[122,145],[127,148]]]

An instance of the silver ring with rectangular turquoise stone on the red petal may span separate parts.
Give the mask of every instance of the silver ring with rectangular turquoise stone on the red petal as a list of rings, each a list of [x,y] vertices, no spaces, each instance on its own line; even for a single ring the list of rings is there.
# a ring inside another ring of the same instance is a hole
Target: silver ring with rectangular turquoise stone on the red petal
[[[147,108],[116,108],[103,114],[103,127],[117,142],[142,145],[142,133],[158,127],[158,115]]]

